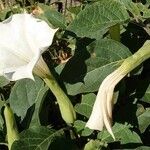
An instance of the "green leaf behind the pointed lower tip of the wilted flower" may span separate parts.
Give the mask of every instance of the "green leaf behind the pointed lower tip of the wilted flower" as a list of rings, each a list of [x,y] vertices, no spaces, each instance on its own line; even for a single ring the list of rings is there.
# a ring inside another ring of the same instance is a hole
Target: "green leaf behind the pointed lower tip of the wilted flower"
[[[134,131],[131,131],[130,126],[128,125],[115,123],[112,130],[116,137],[116,141],[120,141],[121,144],[142,143],[138,134]],[[108,143],[114,141],[111,135],[106,130],[103,130],[102,132],[100,132],[97,138],[101,139],[102,141],[107,141]]]

